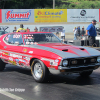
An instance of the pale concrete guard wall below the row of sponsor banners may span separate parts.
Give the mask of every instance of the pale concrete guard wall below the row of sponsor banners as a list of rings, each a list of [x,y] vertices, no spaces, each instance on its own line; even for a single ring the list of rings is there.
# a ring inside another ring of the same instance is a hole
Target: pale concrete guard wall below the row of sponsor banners
[[[0,23],[0,26],[9,26],[6,30],[8,32],[12,32],[14,27],[16,26],[17,29],[21,23]],[[80,26],[80,29],[84,26],[86,29],[87,26],[91,24],[90,22],[66,22],[66,23],[23,23],[24,28],[29,27],[30,31],[34,31],[34,28],[37,27],[46,27],[46,26],[63,26],[65,29],[66,34],[72,35],[74,27]],[[97,22],[96,27],[100,27],[100,22]]]

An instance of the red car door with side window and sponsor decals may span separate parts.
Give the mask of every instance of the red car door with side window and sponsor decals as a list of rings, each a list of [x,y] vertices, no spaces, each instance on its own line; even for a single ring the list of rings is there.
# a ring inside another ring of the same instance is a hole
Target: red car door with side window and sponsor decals
[[[4,38],[4,48],[2,57],[6,62],[16,65],[16,61],[22,59],[23,39],[21,34],[8,34]]]

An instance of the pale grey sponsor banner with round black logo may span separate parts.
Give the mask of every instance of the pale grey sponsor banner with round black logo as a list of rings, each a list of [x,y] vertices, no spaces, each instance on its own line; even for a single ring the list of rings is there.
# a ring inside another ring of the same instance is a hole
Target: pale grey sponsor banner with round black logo
[[[99,22],[99,9],[67,9],[67,22]]]

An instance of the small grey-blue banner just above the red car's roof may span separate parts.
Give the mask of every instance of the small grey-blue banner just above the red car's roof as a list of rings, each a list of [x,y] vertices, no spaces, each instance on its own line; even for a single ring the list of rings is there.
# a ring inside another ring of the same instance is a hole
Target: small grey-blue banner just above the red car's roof
[[[41,32],[62,32],[63,26],[40,27]]]

